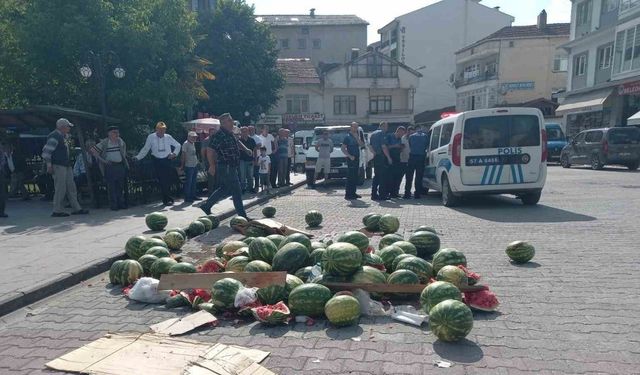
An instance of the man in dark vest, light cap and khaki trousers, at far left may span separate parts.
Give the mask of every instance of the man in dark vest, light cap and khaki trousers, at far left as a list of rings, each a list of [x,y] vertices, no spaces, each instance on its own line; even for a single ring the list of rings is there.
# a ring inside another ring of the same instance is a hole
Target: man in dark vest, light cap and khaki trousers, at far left
[[[64,198],[67,197],[73,211],[72,215],[86,215],[89,211],[82,209],[78,203],[78,191],[73,181],[69,132],[73,124],[65,118],[56,121],[56,130],[47,136],[47,143],[42,149],[42,159],[47,165],[47,173],[53,176],[53,217],[69,216],[64,212]],[[82,157],[82,156],[79,156]]]

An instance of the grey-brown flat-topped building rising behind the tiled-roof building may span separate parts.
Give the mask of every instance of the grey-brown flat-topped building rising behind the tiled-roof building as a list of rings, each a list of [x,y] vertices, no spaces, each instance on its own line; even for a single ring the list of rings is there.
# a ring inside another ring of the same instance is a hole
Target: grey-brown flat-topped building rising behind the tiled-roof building
[[[367,21],[354,15],[259,15],[271,27],[282,59],[309,58],[320,63],[344,63],[352,51],[367,47]]]

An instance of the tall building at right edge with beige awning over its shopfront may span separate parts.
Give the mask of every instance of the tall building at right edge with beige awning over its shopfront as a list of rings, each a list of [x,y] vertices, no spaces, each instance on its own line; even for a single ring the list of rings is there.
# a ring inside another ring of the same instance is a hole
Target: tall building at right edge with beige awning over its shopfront
[[[625,126],[640,111],[640,1],[572,0],[567,133]]]

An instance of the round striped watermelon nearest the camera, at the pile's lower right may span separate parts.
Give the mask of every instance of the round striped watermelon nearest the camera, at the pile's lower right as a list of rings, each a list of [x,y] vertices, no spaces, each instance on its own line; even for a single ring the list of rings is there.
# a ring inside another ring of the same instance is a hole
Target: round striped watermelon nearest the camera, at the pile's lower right
[[[473,313],[460,301],[442,301],[429,311],[429,328],[442,341],[459,341],[471,332]]]

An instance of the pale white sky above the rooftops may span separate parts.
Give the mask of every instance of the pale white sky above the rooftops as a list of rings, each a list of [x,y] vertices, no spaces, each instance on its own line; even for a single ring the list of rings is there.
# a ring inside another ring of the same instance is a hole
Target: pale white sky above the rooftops
[[[369,22],[368,43],[379,40],[377,30],[397,16],[412,12],[439,0],[247,0],[254,4],[256,14],[308,14],[316,8],[316,14],[355,14]],[[393,6],[389,6],[393,4]],[[483,0],[489,7],[515,17],[514,25],[533,25],[538,14],[546,9],[548,22],[569,22],[570,0]]]

